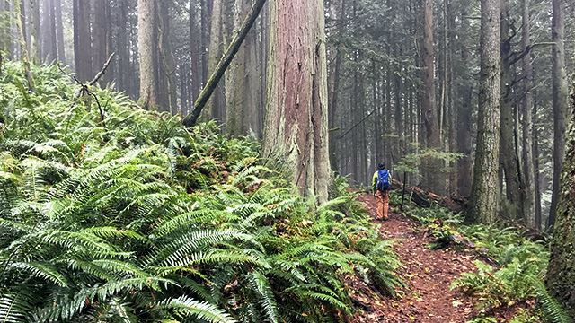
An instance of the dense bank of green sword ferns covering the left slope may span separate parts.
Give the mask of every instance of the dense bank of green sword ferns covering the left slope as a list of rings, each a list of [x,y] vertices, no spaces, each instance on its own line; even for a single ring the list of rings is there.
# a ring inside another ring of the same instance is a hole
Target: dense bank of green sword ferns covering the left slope
[[[0,74],[1,322],[329,322],[400,285],[345,179],[316,206],[259,144],[187,130],[55,66]]]

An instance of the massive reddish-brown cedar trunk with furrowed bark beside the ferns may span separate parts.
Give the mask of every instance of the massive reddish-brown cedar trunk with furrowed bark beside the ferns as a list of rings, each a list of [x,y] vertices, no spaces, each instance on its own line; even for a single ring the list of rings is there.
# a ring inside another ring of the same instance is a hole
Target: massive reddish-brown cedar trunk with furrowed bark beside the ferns
[[[330,178],[323,2],[270,4],[263,155],[286,162],[300,192],[323,202]]]

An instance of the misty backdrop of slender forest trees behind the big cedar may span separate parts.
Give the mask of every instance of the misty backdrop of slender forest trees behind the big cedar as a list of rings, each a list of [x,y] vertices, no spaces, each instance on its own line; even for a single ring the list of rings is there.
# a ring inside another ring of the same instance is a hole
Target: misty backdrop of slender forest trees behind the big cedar
[[[187,115],[251,1],[141,2],[152,4],[145,23],[152,26],[153,47],[138,48],[136,0],[22,1],[32,60],[61,61],[85,82],[116,53],[101,83],[137,100],[147,86],[139,76],[138,53],[143,51],[152,59],[147,67],[152,74],[145,82],[151,83],[153,97],[146,105]],[[564,73],[571,74],[575,4],[556,2],[564,20]],[[552,5],[539,0],[503,4],[500,179],[492,185],[505,192],[500,199],[503,216],[544,229],[553,223],[548,217],[558,189],[553,186],[559,176],[553,152],[563,145],[553,124],[559,116],[553,109],[557,86],[552,81]],[[14,13],[13,5],[0,1],[0,11]],[[204,120],[217,120],[230,135],[262,135],[270,34],[267,6],[202,113]],[[382,161],[397,170],[397,179],[407,170],[411,184],[439,194],[470,195],[479,11],[478,2],[458,0],[325,2],[333,170],[369,185],[376,162]],[[0,49],[9,58],[21,57],[17,21],[2,21]],[[434,66],[430,78],[423,73],[426,65]],[[566,110],[566,85],[561,91]],[[564,117],[559,122],[565,123]],[[439,179],[420,176],[429,172],[421,161],[433,155],[442,158],[439,165],[433,164]]]

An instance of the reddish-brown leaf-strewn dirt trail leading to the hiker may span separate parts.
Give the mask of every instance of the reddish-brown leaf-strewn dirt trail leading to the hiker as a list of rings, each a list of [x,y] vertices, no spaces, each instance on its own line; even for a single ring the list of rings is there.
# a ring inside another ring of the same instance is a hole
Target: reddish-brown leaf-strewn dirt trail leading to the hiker
[[[373,196],[361,196],[360,200],[374,221],[381,223],[376,219]],[[403,215],[391,214],[390,220],[381,224],[382,237],[395,241],[395,252],[403,263],[399,274],[406,287],[398,291],[400,297],[391,299],[357,286],[353,298],[363,310],[351,321],[459,323],[471,319],[472,300],[450,291],[449,285],[460,274],[473,271],[473,256],[454,249],[429,249],[429,238]]]

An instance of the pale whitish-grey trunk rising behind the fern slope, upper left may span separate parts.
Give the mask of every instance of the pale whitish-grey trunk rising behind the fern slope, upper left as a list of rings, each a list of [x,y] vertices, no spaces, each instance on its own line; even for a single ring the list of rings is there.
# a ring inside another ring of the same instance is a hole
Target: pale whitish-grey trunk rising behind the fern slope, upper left
[[[137,49],[140,63],[140,101],[145,109],[156,109],[155,0],[137,1]]]

